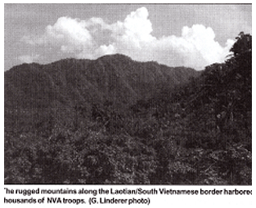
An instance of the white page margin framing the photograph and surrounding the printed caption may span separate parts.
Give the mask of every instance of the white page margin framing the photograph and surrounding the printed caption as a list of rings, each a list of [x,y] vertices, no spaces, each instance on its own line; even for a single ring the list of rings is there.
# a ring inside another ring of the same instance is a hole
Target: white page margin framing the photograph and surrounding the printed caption
[[[237,1],[234,1],[234,2],[222,2],[222,1],[214,1],[212,3],[216,4],[216,3],[252,3],[253,1],[245,1],[245,2],[237,2]],[[2,28],[4,28],[4,3],[20,3],[19,1],[8,1],[8,2],[3,2],[2,3],[2,15],[3,15],[3,18],[2,18]],[[24,2],[22,2],[24,3]],[[25,1],[25,3],[34,3],[34,1]],[[36,3],[40,3],[40,2],[36,2]],[[70,3],[70,2],[60,2],[60,1],[43,1],[43,3]],[[74,2],[72,2],[74,3]],[[102,1],[93,1],[93,2],[89,2],[89,1],[76,1],[76,3],[105,3],[105,2],[102,2]],[[110,2],[107,2],[107,3],[117,3],[117,1],[110,1]],[[155,3],[155,2],[146,2],[146,1],[140,1],[140,2],[137,2],[137,1],[128,1],[126,3]],[[192,2],[166,2],[166,1],[159,1],[157,2],[157,4],[159,3],[192,3]],[[195,1],[193,3],[203,3],[205,4],[205,1]],[[253,7],[253,11],[254,11],[254,7]],[[254,12],[253,12],[253,20],[254,20]],[[3,30],[4,31],[4,30]],[[253,29],[253,33],[254,33],[254,29]],[[2,40],[4,39],[4,33],[2,33]],[[4,44],[2,43],[2,49],[4,49]],[[254,42],[253,42],[253,45],[254,45]],[[2,52],[2,57],[3,57],[3,53]],[[254,60],[254,59],[253,59]],[[4,69],[4,63],[2,61],[2,71]],[[254,69],[254,63],[253,63],[253,69]],[[253,72],[253,79],[254,79],[254,72]],[[4,77],[1,76],[1,95],[2,95],[2,98],[4,96]],[[253,85],[254,87],[254,85]],[[254,90],[253,90],[254,91]],[[4,99],[3,99],[4,101]],[[2,101],[2,126],[1,126],[1,132],[2,132],[2,143],[3,143],[3,139],[4,139],[4,134],[3,134],[3,127],[4,127],[4,110],[3,110],[3,101]],[[254,106],[254,94],[253,94],[253,106]],[[254,114],[254,112],[253,112]],[[253,129],[255,127],[254,125],[254,116],[253,116]],[[253,132],[253,138],[254,138],[254,132]],[[254,142],[253,142],[253,149],[254,148]],[[3,148],[3,145],[2,145],[2,166],[3,166],[3,154],[4,154],[4,148]],[[254,158],[253,158],[253,173],[254,173]],[[3,203],[3,198],[4,197],[7,197],[7,194],[6,194],[6,191],[4,188],[12,188],[12,189],[16,189],[16,188],[22,188],[22,189],[25,189],[25,188],[32,188],[32,189],[35,189],[35,188],[43,188],[44,186],[43,185],[4,185],[4,176],[3,176],[3,172],[4,170],[2,169],[2,172],[1,172],[1,176],[0,176],[0,179],[2,181],[2,206],[4,207],[12,207],[12,206],[19,206],[19,207],[28,207],[29,205],[28,204],[25,204],[25,205],[11,205],[11,206],[8,206],[7,204],[4,204]],[[253,177],[254,179],[254,177]],[[254,184],[254,180],[253,180],[253,184]],[[118,188],[118,189],[121,189],[121,188],[146,188],[146,189],[150,189],[150,188],[163,188],[163,187],[166,187],[166,188],[173,188],[173,189],[199,189],[200,188],[203,188],[203,189],[213,189],[213,188],[216,188],[216,189],[220,189],[222,190],[223,188],[227,188],[227,189],[246,189],[246,190],[253,190],[253,194],[254,194],[254,185],[253,186],[131,186],[131,185],[124,185],[124,186],[101,186],[101,185],[96,185],[96,186],[92,186],[92,185],[79,185],[79,186],[74,186],[74,185],[71,185],[71,186],[65,186],[65,185],[61,185],[61,186],[55,186],[55,185],[47,185],[47,188],[53,188],[53,189],[56,189],[56,187],[60,187],[60,188],[75,188],[75,189],[80,189],[80,188]],[[16,195],[16,197],[18,197]],[[21,197],[21,196],[20,196]],[[30,196],[31,197],[31,196]],[[40,195],[37,195],[36,197],[43,197],[43,196],[40,196]],[[45,196],[47,197],[47,196]],[[58,196],[53,196],[53,197],[58,197]],[[60,195],[60,197],[64,197],[64,195]],[[70,196],[72,197],[72,196]],[[74,195],[74,198],[79,198],[79,197],[82,197],[82,196],[79,196],[79,195]],[[88,197],[88,196],[84,196],[84,197]],[[106,196],[103,196],[102,197],[106,197]],[[112,196],[111,196],[112,197]],[[129,197],[129,196],[128,196]],[[128,198],[128,197],[124,197],[124,198]],[[132,197],[135,197],[135,196],[132,196]],[[136,196],[136,197],[139,197],[139,196]],[[141,196],[140,196],[141,197]],[[159,206],[159,207],[172,207],[172,206],[178,206],[178,207],[256,207],[255,206],[255,203],[254,203],[254,197],[252,196],[186,196],[186,197],[182,197],[182,196],[170,196],[170,195],[165,195],[165,196],[161,196],[161,195],[157,195],[157,196],[149,196],[150,197],[150,207],[156,207],[156,206]],[[254,205],[254,206],[253,206]],[[33,207],[38,207],[40,206],[39,204],[37,204],[36,206],[35,205],[31,205]],[[63,204],[56,204],[56,205],[51,205],[51,204],[47,204],[47,203],[44,203],[43,206],[47,206],[47,207],[56,207],[56,206],[65,206]],[[41,207],[43,207],[41,206]],[[70,206],[70,205],[69,205]],[[76,206],[76,205],[74,205]],[[88,204],[86,205],[80,205],[80,206],[76,206],[76,207],[85,207],[85,206],[89,206]],[[113,205],[94,205],[93,207],[102,207],[102,206],[106,206],[106,207],[112,207]],[[120,205],[116,205],[116,207],[118,207]],[[128,206],[128,205],[124,205],[124,206]],[[146,206],[146,205],[135,205],[135,207],[142,207],[142,206]]]

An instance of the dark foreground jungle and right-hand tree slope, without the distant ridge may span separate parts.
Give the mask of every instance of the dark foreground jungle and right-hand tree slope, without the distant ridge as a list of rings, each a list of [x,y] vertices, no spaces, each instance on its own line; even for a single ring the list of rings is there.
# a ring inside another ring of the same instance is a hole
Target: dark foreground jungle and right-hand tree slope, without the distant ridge
[[[5,129],[5,184],[252,184],[251,42],[240,33],[225,63],[123,110],[31,111],[37,126]]]

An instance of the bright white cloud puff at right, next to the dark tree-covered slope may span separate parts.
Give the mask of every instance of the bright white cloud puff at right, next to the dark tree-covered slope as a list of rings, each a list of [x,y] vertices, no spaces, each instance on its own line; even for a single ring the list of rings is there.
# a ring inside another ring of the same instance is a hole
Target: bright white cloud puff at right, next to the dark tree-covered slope
[[[203,69],[206,65],[224,61],[234,43],[228,40],[227,46],[222,47],[214,38],[213,29],[195,24],[191,28],[183,27],[181,37],[161,38],[156,43],[156,47],[158,51],[163,49],[168,53],[168,57],[164,60],[166,64],[182,64]],[[173,60],[172,57],[175,59]]]

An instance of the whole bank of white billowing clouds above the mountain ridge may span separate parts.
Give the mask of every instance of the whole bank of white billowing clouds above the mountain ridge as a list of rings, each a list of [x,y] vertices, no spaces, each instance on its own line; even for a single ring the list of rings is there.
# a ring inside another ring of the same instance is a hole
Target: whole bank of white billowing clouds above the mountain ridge
[[[61,17],[48,25],[38,37],[24,37],[31,45],[57,48],[62,54],[96,59],[101,55],[122,53],[133,60],[156,60],[169,66],[204,69],[206,65],[225,60],[233,40],[221,46],[214,40],[210,27],[195,24],[184,26],[180,37],[155,38],[146,7],[132,11],[124,21],[107,24],[101,18],[89,20]],[[28,57],[27,57],[28,58]]]

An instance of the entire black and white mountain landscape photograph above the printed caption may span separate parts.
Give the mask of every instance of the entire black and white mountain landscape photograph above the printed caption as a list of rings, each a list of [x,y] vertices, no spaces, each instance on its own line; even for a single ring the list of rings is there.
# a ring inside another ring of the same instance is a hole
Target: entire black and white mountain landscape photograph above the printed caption
[[[251,186],[252,4],[5,3],[4,184]]]

